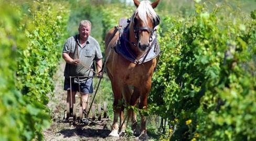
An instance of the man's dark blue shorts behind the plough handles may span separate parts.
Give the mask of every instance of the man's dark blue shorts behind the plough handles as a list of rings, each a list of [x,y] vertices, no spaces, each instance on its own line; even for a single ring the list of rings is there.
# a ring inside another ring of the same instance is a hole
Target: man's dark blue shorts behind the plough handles
[[[72,85],[72,92],[79,92],[79,84],[74,83],[74,80],[71,80],[71,85]],[[70,80],[69,78],[65,77],[64,81],[64,90],[70,90]],[[87,79],[85,82],[80,83],[80,92],[83,93],[93,93],[92,89],[92,78]]]

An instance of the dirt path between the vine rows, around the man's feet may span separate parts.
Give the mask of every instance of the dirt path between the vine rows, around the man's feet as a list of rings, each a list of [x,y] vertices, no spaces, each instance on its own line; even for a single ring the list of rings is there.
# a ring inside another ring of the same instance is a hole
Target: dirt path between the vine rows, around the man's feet
[[[63,71],[65,62],[61,61],[55,76],[55,95],[50,98],[48,106],[51,110],[52,124],[44,131],[45,140],[130,140],[125,137],[108,137],[111,122],[103,126],[69,126],[69,123],[59,123],[63,118],[63,111],[66,109],[66,91],[63,91]],[[78,103],[77,94],[76,100]]]

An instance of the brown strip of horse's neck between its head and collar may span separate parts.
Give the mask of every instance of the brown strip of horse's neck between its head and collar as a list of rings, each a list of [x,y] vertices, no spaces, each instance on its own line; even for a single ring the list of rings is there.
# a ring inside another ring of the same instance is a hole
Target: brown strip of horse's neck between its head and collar
[[[138,47],[137,47],[137,39],[135,38],[135,33],[134,33],[134,29],[133,29],[133,24],[130,24],[129,26],[129,39],[128,39],[130,42],[134,42],[135,43],[135,47],[130,45],[130,49],[131,51],[133,52],[133,54],[135,55],[136,59],[139,59],[143,53],[141,53],[139,50],[138,50]]]

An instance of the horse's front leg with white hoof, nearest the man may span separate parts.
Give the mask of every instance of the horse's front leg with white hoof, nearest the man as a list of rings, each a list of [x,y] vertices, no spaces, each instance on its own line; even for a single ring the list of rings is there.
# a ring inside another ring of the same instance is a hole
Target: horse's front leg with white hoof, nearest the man
[[[113,111],[114,111],[114,119],[112,124],[112,131],[109,136],[119,137],[119,125],[118,125],[118,117],[121,114],[122,108],[122,93],[120,90],[120,86],[116,83],[118,81],[112,81],[112,90],[114,94],[114,103],[113,103]]]

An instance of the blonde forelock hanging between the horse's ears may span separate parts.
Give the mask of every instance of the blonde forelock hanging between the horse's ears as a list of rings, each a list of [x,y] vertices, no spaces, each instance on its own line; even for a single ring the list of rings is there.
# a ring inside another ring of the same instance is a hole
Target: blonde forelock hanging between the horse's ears
[[[147,24],[147,16],[151,19],[151,20],[156,20],[157,14],[155,12],[155,10],[152,8],[151,6],[151,2],[150,1],[142,1],[140,3],[140,5],[138,5],[135,14],[138,15],[138,17],[140,17],[140,19]]]

